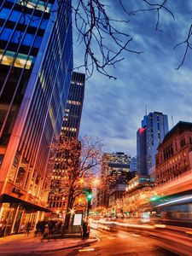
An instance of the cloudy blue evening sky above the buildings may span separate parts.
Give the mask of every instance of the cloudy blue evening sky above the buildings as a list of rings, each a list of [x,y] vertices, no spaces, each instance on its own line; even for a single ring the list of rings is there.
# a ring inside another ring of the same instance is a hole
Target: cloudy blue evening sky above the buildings
[[[192,122],[192,51],[183,67],[176,70],[182,61],[184,47],[173,49],[187,36],[192,3],[190,0],[168,1],[175,20],[165,12],[160,13],[163,32],[156,32],[154,13],[127,16],[117,0],[102,2],[108,3],[112,18],[130,20],[127,25],[119,24],[119,29],[131,34],[134,39],[131,49],[141,50],[143,54],[124,52],[121,56],[125,60],[108,69],[117,80],[94,73],[86,81],[80,136],[102,137],[105,152],[123,151],[134,156],[136,133],[145,114],[145,105],[148,112],[166,113],[169,128],[172,128],[172,116],[174,125],[179,120]],[[129,10],[144,7],[142,0],[125,3]],[[73,47],[74,66],[79,66],[83,61],[79,50],[82,46],[76,43],[75,36]]]

